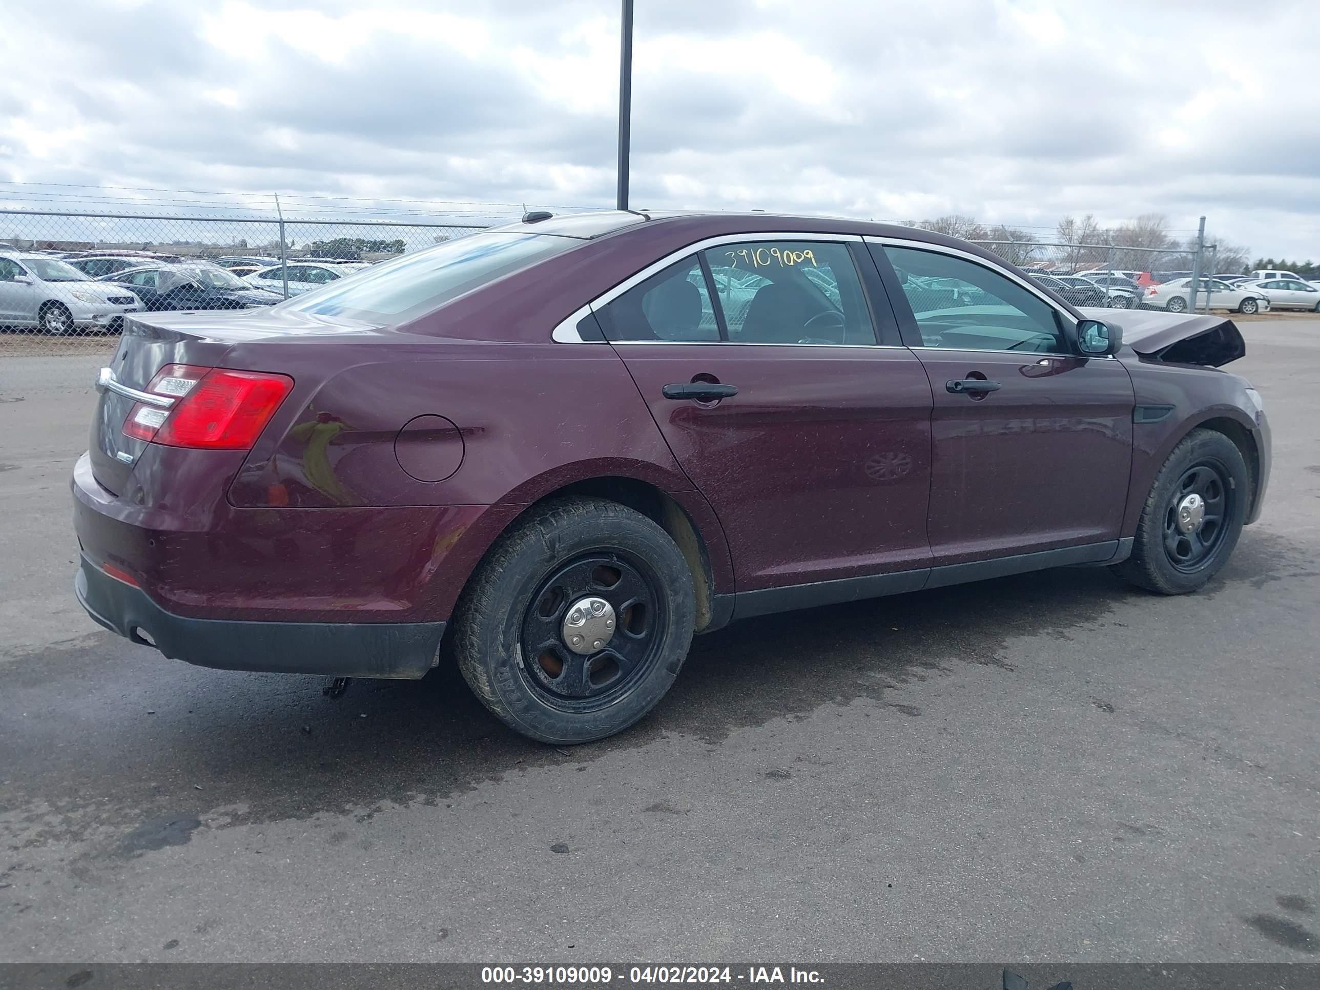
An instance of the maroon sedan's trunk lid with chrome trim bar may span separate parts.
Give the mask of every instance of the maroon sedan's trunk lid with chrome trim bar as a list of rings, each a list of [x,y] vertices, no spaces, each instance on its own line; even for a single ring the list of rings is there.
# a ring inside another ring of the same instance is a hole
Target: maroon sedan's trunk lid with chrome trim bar
[[[345,319],[314,317],[282,309],[232,309],[198,313],[149,313],[124,321],[124,333],[111,358],[110,372],[129,388],[145,391],[165,364],[224,367],[234,345],[290,334],[370,333],[371,327]],[[92,417],[88,453],[92,477],[114,495],[128,488],[147,442],[124,436],[124,420],[135,401],[102,389]]]

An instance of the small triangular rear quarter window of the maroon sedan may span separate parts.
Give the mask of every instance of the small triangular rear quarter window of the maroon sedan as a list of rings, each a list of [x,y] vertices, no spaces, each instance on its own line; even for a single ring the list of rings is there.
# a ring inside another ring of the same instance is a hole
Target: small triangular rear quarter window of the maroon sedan
[[[718,281],[717,281],[718,284]],[[595,310],[607,341],[718,341],[706,277],[689,255]]]

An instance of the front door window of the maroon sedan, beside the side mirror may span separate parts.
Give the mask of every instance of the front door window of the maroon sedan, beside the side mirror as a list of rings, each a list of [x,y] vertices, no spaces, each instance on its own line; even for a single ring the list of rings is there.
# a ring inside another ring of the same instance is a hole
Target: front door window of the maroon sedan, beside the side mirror
[[[969,351],[1063,354],[1060,319],[1048,302],[987,265],[886,246],[921,343]]]

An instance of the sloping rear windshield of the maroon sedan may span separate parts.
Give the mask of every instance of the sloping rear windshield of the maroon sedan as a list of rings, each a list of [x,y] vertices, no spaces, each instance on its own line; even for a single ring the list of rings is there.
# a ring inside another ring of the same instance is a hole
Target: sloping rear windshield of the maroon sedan
[[[540,234],[469,234],[381,261],[280,306],[322,315],[411,318],[581,243]]]

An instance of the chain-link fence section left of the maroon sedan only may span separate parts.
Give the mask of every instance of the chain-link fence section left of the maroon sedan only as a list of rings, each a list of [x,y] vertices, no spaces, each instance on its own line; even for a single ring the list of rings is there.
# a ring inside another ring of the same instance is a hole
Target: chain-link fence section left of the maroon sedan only
[[[487,224],[0,210],[0,360],[110,352],[124,314],[269,305]]]

